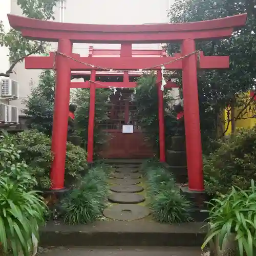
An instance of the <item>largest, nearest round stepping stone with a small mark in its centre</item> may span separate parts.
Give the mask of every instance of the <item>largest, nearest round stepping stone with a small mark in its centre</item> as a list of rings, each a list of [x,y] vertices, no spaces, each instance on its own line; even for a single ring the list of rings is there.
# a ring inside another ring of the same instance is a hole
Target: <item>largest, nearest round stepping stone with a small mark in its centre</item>
[[[117,204],[104,209],[103,215],[117,221],[134,221],[147,217],[150,211],[137,204]]]

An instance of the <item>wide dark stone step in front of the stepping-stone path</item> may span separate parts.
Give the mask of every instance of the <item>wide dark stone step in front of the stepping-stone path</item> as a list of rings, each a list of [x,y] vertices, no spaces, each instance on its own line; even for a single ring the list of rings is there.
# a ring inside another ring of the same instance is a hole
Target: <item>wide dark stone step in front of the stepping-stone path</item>
[[[48,222],[40,228],[40,246],[198,246],[206,223],[162,224],[139,221],[97,221],[88,225]],[[72,254],[73,255],[73,254]],[[200,254],[199,254],[200,255]]]

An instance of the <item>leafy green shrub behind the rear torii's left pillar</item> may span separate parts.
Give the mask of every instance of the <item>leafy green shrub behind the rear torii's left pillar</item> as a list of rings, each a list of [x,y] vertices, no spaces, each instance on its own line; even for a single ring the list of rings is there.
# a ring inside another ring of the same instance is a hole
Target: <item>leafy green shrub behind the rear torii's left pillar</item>
[[[102,133],[102,124],[108,119],[106,115],[108,97],[112,94],[109,89],[97,89],[95,99],[94,146],[103,144],[107,136]],[[75,92],[77,110],[75,113],[77,134],[83,143],[88,141],[90,89],[78,89]]]

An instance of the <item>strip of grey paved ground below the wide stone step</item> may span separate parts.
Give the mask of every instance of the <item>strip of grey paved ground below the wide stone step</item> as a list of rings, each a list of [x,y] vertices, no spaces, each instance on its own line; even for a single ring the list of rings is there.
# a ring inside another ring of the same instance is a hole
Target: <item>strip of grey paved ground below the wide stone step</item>
[[[44,256],[200,256],[197,247],[58,247]]]

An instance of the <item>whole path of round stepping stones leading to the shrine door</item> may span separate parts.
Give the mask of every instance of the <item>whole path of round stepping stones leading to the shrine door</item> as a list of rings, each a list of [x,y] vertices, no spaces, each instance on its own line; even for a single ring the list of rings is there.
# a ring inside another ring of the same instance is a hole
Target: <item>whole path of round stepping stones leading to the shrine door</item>
[[[106,218],[119,221],[139,220],[150,215],[147,207],[138,205],[145,201],[143,195],[137,194],[144,190],[140,164],[117,164],[110,179],[111,194],[109,201],[114,205],[106,208],[103,215]]]

